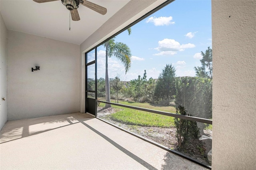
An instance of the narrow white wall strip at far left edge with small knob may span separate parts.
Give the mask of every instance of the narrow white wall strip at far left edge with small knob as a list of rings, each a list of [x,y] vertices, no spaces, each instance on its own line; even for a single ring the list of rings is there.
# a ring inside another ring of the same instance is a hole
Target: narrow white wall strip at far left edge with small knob
[[[7,101],[3,101],[2,97],[6,97],[6,66],[7,66],[7,29],[0,12],[0,129],[7,121]]]

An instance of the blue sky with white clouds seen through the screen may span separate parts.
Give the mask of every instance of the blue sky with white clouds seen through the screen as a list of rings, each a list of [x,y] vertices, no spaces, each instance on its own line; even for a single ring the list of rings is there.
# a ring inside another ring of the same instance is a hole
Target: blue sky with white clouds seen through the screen
[[[195,76],[200,66],[200,52],[212,48],[211,1],[176,0],[131,27],[132,34],[122,32],[116,42],[126,43],[132,52],[132,65],[125,74],[115,57],[109,58],[109,78],[123,81],[143,76],[157,79],[166,64],[172,64],[177,76]],[[98,50],[97,77],[105,77],[105,49]]]

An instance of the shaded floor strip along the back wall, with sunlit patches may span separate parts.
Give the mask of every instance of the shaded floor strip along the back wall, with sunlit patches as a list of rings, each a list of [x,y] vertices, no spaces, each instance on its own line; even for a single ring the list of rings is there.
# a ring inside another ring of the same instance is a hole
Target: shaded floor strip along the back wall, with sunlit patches
[[[8,121],[0,131],[0,144],[70,126],[93,118],[95,117],[85,113],[73,113]]]

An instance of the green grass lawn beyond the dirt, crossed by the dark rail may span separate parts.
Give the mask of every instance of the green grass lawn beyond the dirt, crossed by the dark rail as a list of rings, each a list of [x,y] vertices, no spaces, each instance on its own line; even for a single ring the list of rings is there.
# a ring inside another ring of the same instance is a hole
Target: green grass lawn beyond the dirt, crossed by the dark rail
[[[115,102],[111,100],[111,102]],[[127,101],[119,101],[120,104],[131,105],[136,107],[142,107],[146,109],[153,109],[158,111],[165,111],[170,113],[176,113],[176,109],[172,106],[161,106],[150,103],[137,103],[137,102],[127,102]],[[104,103],[100,103],[100,107],[104,107]],[[174,126],[174,118],[159,115],[155,113],[149,113],[145,111],[138,111],[135,109],[129,109],[125,107],[111,105],[116,113],[112,113],[111,115],[107,115],[108,118],[118,121],[121,123],[125,123],[128,125],[138,125],[138,126],[154,126],[154,127],[173,127]]]

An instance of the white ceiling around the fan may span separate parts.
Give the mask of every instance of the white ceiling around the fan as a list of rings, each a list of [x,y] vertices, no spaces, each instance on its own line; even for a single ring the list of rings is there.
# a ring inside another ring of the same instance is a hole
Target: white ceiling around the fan
[[[80,45],[130,0],[88,1],[107,8],[107,14],[98,14],[80,4],[80,21],[72,21],[70,12],[61,0],[46,3],[36,3],[33,0],[1,0],[0,8],[8,30]]]

